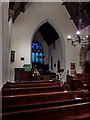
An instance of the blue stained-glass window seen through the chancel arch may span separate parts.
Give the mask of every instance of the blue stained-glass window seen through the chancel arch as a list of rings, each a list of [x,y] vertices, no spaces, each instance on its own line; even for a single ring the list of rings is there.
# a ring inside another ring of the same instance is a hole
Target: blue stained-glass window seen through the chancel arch
[[[32,42],[32,63],[43,63],[43,49],[36,40]]]

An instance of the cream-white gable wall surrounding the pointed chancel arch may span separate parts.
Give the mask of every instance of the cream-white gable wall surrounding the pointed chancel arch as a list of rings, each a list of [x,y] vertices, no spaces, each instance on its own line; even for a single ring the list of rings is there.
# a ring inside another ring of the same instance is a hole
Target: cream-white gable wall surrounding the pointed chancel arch
[[[51,20],[52,25],[58,32],[62,44],[62,63],[65,69],[70,68],[70,63],[75,62],[79,68],[79,46],[74,47],[67,42],[69,34],[76,33],[76,27],[62,6],[62,3],[32,3],[27,11],[17,17],[12,27],[11,49],[15,50],[15,62],[11,65],[13,73],[15,67],[22,67],[25,63],[31,63],[31,41],[33,34],[45,20]],[[25,61],[20,61],[24,56]],[[66,58],[67,57],[67,58]],[[64,59],[66,62],[64,62]]]

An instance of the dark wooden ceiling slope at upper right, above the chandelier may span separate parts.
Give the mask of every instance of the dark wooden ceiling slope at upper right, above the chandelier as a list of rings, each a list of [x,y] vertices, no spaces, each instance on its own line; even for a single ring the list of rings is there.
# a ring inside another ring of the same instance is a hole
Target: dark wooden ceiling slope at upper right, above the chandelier
[[[90,25],[90,1],[89,2],[64,2],[70,20],[73,20],[78,30]],[[79,20],[81,19],[81,24]]]

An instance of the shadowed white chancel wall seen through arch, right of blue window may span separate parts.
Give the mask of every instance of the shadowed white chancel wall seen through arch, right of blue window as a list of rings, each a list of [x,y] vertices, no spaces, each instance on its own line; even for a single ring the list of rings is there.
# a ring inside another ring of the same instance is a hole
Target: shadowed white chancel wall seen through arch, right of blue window
[[[65,48],[64,48],[65,49]],[[62,43],[60,38],[58,40],[55,41],[55,49],[53,44],[51,44],[49,46],[49,70],[51,72],[57,73],[57,62],[58,60],[60,61],[60,68],[64,69],[64,73],[63,73],[63,80],[64,82],[66,82],[66,59],[63,58],[63,53],[65,53],[65,51],[63,52],[63,48],[62,48]],[[53,60],[53,69],[51,70],[51,57]],[[54,66],[54,64],[56,64],[56,67]]]

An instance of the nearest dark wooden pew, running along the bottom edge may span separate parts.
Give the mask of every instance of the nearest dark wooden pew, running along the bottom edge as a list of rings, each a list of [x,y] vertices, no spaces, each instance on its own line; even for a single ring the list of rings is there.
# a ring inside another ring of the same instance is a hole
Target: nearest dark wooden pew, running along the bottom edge
[[[90,118],[90,102],[5,112],[2,120],[77,120],[83,115]]]

